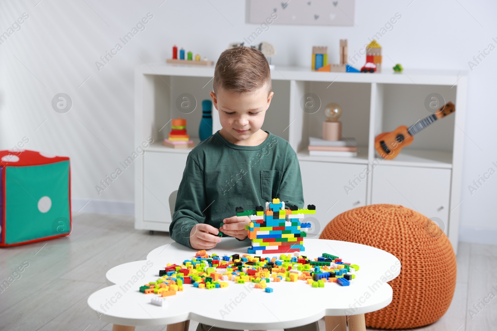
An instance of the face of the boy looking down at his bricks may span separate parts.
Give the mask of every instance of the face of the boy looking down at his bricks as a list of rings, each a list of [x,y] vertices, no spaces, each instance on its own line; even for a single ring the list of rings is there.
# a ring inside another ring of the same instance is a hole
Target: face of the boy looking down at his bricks
[[[219,90],[217,95],[211,92],[214,107],[219,112],[221,126],[229,136],[233,137],[231,140],[245,140],[259,131],[273,94],[270,92],[267,95],[266,87],[240,95],[225,90]]]

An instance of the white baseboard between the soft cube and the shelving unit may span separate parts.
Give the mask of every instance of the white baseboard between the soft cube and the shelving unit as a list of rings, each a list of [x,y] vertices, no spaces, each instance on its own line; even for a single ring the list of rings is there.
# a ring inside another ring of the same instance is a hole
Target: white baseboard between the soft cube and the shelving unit
[[[134,215],[133,202],[97,200],[97,199],[71,199],[72,212],[90,212],[96,214]]]

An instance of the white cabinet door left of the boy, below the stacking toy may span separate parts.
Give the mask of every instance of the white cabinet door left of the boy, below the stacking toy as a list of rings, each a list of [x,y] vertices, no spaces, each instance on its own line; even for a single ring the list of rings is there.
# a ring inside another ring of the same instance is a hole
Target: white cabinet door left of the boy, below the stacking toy
[[[144,156],[144,222],[169,224],[169,196],[179,187],[188,155],[147,152]]]

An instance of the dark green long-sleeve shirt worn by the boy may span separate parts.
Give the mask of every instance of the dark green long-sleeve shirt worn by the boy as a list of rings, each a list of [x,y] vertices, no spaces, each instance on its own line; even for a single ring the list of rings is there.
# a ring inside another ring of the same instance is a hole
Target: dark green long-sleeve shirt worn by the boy
[[[191,150],[169,226],[173,240],[191,248],[189,234],[195,224],[219,229],[223,219],[236,215],[238,206],[255,210],[279,198],[303,208],[297,154],[288,141],[267,133],[260,145],[240,146],[218,131]]]

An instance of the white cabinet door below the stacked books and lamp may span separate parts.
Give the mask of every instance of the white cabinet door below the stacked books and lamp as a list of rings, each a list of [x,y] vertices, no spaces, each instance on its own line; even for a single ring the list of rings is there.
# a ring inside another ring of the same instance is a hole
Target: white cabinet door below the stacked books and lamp
[[[336,215],[366,204],[366,180],[356,180],[354,188],[348,183],[366,169],[364,164],[300,161],[304,206],[316,205],[313,217],[320,223],[320,228],[312,232],[316,238],[316,231],[321,232]],[[344,186],[351,190],[346,191]]]

